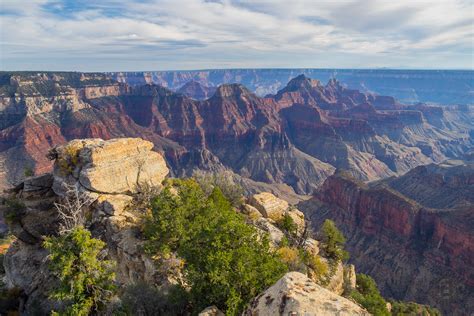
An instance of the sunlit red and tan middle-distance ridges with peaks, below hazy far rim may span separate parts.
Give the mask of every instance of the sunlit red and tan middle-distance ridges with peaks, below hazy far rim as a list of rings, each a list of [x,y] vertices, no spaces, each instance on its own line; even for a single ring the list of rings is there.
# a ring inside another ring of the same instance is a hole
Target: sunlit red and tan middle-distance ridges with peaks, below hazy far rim
[[[375,180],[461,156],[472,145],[469,107],[405,106],[335,80],[298,76],[265,98],[225,84],[206,100],[103,74],[4,73],[1,82],[0,162],[9,183],[25,167],[50,170],[48,148],[76,138],[142,137],[175,175],[227,170],[298,194],[312,193],[335,168]]]

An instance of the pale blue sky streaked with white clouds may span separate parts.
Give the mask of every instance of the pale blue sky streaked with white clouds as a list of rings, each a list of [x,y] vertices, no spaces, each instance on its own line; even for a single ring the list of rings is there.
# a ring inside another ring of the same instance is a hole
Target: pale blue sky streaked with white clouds
[[[474,0],[0,0],[0,70],[474,69]]]

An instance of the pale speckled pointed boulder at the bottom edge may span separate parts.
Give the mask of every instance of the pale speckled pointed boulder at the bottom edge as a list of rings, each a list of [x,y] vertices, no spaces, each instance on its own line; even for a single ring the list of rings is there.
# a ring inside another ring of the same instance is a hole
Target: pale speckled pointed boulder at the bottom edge
[[[349,316],[370,314],[354,302],[317,285],[304,274],[289,272],[257,296],[244,315]]]

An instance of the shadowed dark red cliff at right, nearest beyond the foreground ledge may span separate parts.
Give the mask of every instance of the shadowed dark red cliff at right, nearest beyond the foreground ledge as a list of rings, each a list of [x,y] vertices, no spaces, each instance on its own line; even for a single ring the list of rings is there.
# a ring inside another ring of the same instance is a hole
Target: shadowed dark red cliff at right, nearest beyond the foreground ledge
[[[370,186],[334,175],[299,208],[314,227],[336,221],[350,261],[384,295],[464,315],[474,308],[473,180],[474,165],[459,161]]]

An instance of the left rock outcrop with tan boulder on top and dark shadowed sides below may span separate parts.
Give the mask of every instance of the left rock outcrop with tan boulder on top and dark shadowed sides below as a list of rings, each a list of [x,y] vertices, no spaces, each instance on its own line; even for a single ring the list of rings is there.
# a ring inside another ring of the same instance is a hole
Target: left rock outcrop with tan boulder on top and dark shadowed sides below
[[[51,152],[53,175],[28,178],[14,189],[25,209],[15,215],[12,233],[18,238],[7,252],[6,283],[20,288],[27,298],[23,308],[50,310],[46,297],[54,285],[47,269],[44,236],[59,232],[58,211],[71,190],[88,202],[83,210],[86,227],[106,242],[107,256],[117,262],[119,284],[150,282],[166,288],[176,282],[181,262],[171,257],[159,267],[143,254],[144,241],[136,224],[140,214],[132,207],[141,185],[160,185],[168,174],[163,157],[142,139],[87,139],[72,141]]]

